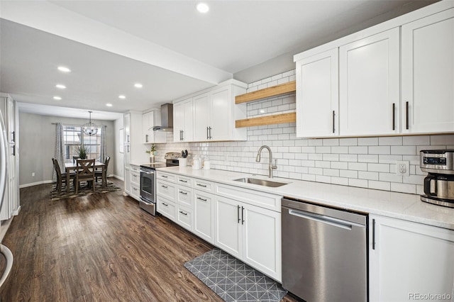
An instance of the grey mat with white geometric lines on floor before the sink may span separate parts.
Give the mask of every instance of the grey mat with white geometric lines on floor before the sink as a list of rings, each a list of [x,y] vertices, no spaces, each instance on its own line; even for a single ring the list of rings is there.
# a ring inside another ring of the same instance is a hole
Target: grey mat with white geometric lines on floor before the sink
[[[281,301],[287,294],[279,283],[215,248],[184,264],[224,301]]]

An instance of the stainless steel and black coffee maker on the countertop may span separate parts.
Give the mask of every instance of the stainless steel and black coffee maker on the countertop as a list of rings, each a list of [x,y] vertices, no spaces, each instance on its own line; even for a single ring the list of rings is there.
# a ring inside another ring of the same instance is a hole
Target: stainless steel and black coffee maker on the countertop
[[[421,150],[419,166],[428,172],[421,201],[454,208],[454,150]]]

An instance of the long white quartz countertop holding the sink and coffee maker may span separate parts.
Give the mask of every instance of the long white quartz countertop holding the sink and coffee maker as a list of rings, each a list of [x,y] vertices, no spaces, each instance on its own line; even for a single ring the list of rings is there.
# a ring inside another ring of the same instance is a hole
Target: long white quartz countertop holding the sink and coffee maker
[[[217,169],[193,170],[192,167],[165,167],[158,171],[172,172],[189,177],[231,184],[243,188],[277,194],[290,198],[302,199],[312,203],[334,206],[351,211],[399,218],[416,223],[424,223],[441,228],[454,230],[454,208],[436,206],[421,201],[419,195],[404,194],[390,191],[355,188],[353,186],[339,186],[323,184],[314,181],[299,181],[296,179],[273,178],[272,181],[286,183],[284,186],[272,188],[258,184],[246,184],[235,181],[242,177],[268,179],[262,175],[245,174]]]

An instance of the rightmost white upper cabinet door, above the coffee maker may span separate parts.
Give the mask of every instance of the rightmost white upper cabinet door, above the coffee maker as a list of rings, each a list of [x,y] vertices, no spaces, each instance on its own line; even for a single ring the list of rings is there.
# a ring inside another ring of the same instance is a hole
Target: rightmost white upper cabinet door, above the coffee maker
[[[402,132],[454,131],[454,9],[402,26]]]

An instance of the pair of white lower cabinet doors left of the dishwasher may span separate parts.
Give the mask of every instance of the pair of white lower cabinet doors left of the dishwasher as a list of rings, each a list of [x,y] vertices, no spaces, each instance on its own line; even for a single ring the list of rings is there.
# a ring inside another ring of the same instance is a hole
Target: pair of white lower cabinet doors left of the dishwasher
[[[281,281],[281,214],[216,196],[214,244]]]

